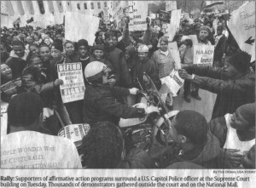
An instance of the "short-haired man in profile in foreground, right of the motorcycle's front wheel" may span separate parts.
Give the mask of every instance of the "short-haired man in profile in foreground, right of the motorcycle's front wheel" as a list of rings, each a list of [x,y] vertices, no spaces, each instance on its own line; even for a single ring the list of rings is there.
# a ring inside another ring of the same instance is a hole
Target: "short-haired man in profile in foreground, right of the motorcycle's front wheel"
[[[173,163],[168,168],[190,168],[190,162],[203,168],[223,168],[224,151],[218,139],[209,131],[207,120],[196,111],[179,111],[172,120],[170,136],[181,148],[177,162],[188,165],[177,166]]]

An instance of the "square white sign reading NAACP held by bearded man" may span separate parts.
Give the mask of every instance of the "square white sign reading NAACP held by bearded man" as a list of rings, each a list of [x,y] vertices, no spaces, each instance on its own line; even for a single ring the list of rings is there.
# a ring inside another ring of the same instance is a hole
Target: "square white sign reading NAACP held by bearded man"
[[[194,45],[194,64],[211,65],[213,63],[214,46]]]

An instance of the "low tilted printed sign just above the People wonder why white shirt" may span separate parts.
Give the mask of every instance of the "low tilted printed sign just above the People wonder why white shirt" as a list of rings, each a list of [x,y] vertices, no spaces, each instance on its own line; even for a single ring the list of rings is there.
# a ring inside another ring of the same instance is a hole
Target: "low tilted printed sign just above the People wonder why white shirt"
[[[62,136],[69,140],[72,140],[76,147],[79,147],[82,145],[82,140],[89,130],[89,124],[72,124],[61,128],[58,136]]]

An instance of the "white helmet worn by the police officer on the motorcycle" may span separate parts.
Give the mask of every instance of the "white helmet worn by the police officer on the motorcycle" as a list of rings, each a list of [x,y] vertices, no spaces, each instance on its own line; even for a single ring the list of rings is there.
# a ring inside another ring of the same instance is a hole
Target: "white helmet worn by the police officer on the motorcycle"
[[[105,64],[100,61],[92,61],[84,69],[84,77],[90,83],[91,81],[97,80],[102,77],[103,71],[108,68]]]

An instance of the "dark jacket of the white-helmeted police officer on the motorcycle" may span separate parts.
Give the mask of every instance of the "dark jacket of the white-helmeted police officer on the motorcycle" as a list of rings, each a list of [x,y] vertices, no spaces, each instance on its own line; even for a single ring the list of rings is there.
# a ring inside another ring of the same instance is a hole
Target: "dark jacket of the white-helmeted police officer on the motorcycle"
[[[105,85],[88,85],[84,94],[84,122],[118,122],[118,118],[143,117],[144,109],[123,105],[115,100],[117,96],[130,94],[128,88]]]

